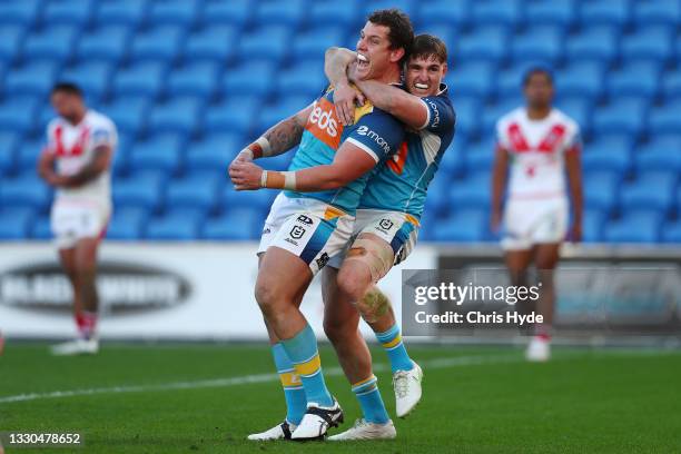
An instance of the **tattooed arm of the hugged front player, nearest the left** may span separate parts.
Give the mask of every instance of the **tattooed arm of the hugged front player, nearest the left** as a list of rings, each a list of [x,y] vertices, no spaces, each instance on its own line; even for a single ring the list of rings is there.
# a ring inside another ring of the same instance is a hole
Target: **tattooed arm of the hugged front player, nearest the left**
[[[308,106],[287,119],[279,121],[266,130],[256,141],[239,151],[231,164],[277,156],[290,150],[300,144],[303,130],[310,112],[312,106]]]

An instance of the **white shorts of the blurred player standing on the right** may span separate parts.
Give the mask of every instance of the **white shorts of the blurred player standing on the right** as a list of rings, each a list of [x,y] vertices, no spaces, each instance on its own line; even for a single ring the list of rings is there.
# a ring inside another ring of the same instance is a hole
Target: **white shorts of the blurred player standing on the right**
[[[568,234],[568,199],[510,199],[504,211],[505,250],[562,243]]]

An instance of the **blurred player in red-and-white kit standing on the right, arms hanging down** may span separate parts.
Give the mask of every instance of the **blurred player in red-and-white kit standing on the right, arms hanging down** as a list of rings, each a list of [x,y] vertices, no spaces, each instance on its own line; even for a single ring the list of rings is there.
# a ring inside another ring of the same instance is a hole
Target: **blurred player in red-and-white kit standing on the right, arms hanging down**
[[[505,115],[496,125],[491,221],[493,230],[503,223],[502,248],[512,284],[527,285],[527,268],[534,263],[537,269],[541,292],[536,313],[543,316],[543,323],[534,326],[526,357],[547,361],[555,303],[553,270],[563,240],[568,237],[579,241],[582,236],[581,140],[576,122],[552,107],[551,71],[540,67],[529,70],[523,92],[526,105]],[[506,203],[502,210],[504,189]],[[521,312],[534,309],[529,302],[519,307]]]

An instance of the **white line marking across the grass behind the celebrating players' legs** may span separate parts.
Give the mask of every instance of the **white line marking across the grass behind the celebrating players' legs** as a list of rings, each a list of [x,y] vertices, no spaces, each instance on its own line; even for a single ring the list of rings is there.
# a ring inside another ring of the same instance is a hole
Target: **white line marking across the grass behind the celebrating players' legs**
[[[455,356],[455,357],[442,357],[434,359],[422,361],[418,364],[425,369],[433,368],[447,368],[457,366],[475,366],[482,364],[501,364],[501,363],[519,363],[522,362],[523,357],[521,354],[515,355],[485,355],[485,356]],[[375,364],[374,371],[385,372],[389,367],[386,364]],[[343,375],[340,367],[330,367],[324,369],[324,375],[338,376]],[[174,383],[160,383],[156,385],[125,385],[125,386],[109,386],[109,387],[97,387],[86,389],[71,389],[71,391],[52,391],[49,393],[30,393],[30,394],[17,394],[13,396],[0,397],[0,404],[8,404],[12,402],[28,402],[28,401],[40,401],[46,398],[58,398],[58,397],[76,397],[76,396],[88,396],[95,394],[109,394],[109,393],[145,393],[154,391],[174,391],[174,389],[198,389],[208,387],[228,387],[246,385],[249,383],[266,383],[266,382],[278,382],[279,376],[277,374],[255,374],[244,375],[239,377],[229,378],[215,378],[215,379],[200,379],[195,382],[174,382]]]

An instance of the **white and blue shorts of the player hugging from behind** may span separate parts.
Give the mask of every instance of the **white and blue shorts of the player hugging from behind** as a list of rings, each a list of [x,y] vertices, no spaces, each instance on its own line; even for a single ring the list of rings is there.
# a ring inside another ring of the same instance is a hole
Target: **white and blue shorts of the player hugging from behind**
[[[388,211],[382,209],[358,209],[352,241],[340,254],[332,258],[328,266],[340,268],[340,264],[347,254],[352,243],[359,234],[374,234],[391,245],[397,265],[404,261],[416,245],[418,236],[418,219],[401,211]]]

